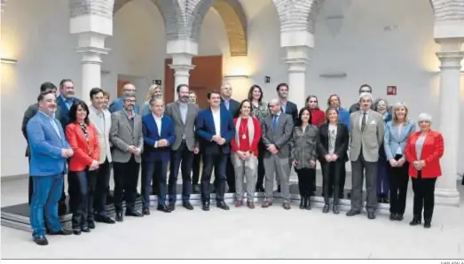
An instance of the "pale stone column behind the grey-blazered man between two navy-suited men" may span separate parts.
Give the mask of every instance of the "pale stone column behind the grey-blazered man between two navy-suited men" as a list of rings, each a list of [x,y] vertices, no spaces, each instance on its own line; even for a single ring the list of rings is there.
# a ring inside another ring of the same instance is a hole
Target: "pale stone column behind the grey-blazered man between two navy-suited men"
[[[172,40],[168,42],[167,53],[172,56],[169,67],[174,70],[174,100],[177,100],[177,85],[188,85],[190,70],[195,68],[192,58],[198,53],[198,43],[191,40]]]

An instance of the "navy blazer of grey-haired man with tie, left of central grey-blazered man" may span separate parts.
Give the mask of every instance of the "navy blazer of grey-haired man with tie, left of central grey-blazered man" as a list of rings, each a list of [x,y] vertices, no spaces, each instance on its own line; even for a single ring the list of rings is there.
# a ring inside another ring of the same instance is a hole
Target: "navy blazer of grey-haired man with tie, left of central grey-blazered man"
[[[144,152],[142,159],[145,161],[169,161],[170,148],[176,142],[176,131],[174,130],[174,121],[168,116],[163,115],[161,118],[161,136],[158,134],[158,126],[153,118],[153,113],[145,114],[142,117],[142,132],[144,134]],[[161,148],[155,148],[154,144],[161,139],[166,139],[168,145]]]

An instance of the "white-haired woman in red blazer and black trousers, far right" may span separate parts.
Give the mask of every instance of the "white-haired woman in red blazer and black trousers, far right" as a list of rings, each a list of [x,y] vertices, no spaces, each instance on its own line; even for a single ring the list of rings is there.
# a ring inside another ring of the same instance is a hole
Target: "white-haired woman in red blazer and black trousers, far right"
[[[413,180],[414,204],[412,226],[421,224],[424,209],[424,228],[429,229],[434,209],[436,178],[442,175],[440,159],[444,152],[443,136],[430,128],[432,117],[419,115],[421,131],[409,136],[405,146],[405,157],[409,164],[409,175]]]

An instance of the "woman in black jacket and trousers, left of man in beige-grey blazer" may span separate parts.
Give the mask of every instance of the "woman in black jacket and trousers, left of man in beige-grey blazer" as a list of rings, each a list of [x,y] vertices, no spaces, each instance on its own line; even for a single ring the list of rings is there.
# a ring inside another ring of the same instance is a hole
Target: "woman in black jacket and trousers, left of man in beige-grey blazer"
[[[334,214],[339,214],[340,178],[342,167],[348,159],[347,151],[350,142],[348,128],[339,122],[338,110],[329,107],[326,110],[326,123],[319,127],[318,134],[319,161],[322,167],[322,188],[324,190],[323,213],[329,211],[330,190],[334,189]]]

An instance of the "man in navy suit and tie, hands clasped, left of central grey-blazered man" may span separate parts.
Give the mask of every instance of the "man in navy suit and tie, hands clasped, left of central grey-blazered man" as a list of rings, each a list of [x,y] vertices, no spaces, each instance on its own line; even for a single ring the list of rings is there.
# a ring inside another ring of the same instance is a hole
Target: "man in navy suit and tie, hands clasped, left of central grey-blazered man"
[[[150,214],[150,189],[151,182],[158,181],[158,207],[164,213],[171,210],[166,206],[166,176],[170,158],[170,147],[176,141],[174,122],[164,115],[164,102],[161,98],[153,98],[150,101],[152,113],[142,117],[142,130],[144,133],[144,152],[142,154],[142,202],[145,215]],[[154,174],[157,171],[159,175]]]

